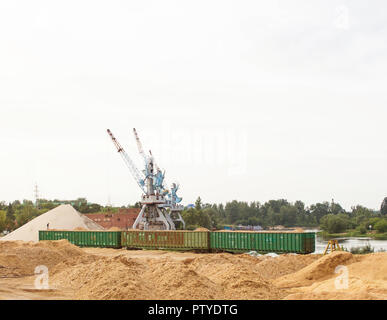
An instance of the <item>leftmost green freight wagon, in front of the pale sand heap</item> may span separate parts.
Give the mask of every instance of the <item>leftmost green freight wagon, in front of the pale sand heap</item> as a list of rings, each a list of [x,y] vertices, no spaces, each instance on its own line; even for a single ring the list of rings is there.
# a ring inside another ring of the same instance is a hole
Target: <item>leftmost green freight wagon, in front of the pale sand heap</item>
[[[121,231],[39,231],[39,241],[67,239],[79,247],[121,248]]]

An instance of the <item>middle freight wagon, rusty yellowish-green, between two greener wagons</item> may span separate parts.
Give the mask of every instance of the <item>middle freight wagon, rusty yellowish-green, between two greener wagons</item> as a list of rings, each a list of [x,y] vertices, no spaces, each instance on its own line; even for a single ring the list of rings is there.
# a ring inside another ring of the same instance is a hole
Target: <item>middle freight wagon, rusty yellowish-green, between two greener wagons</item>
[[[128,249],[171,249],[206,250],[210,249],[209,231],[142,231],[122,232],[121,243]]]

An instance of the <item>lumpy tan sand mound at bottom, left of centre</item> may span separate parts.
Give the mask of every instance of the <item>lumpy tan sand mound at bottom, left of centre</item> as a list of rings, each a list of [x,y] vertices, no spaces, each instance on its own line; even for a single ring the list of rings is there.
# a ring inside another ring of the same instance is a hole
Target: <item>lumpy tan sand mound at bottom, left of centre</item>
[[[58,265],[52,281],[76,290],[77,299],[212,299],[217,288],[181,261],[117,256]]]

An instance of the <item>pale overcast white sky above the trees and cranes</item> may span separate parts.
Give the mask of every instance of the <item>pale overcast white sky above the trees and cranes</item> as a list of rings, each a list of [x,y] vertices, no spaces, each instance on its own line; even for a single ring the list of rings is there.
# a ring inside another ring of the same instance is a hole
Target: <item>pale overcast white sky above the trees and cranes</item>
[[[0,200],[387,196],[385,1],[0,2]]]

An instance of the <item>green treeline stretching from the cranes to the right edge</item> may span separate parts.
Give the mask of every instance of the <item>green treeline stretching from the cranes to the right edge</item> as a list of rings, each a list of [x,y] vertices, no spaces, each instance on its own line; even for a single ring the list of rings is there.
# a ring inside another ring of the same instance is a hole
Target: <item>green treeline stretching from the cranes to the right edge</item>
[[[383,209],[383,208],[382,208]],[[374,211],[356,206],[346,211],[335,202],[316,203],[307,207],[302,201],[290,203],[285,199],[259,202],[231,201],[223,204],[203,204],[199,197],[195,208],[183,211],[187,229],[205,227],[221,229],[225,225],[320,227],[329,233],[356,230],[364,234],[367,230],[387,232],[387,212]]]

